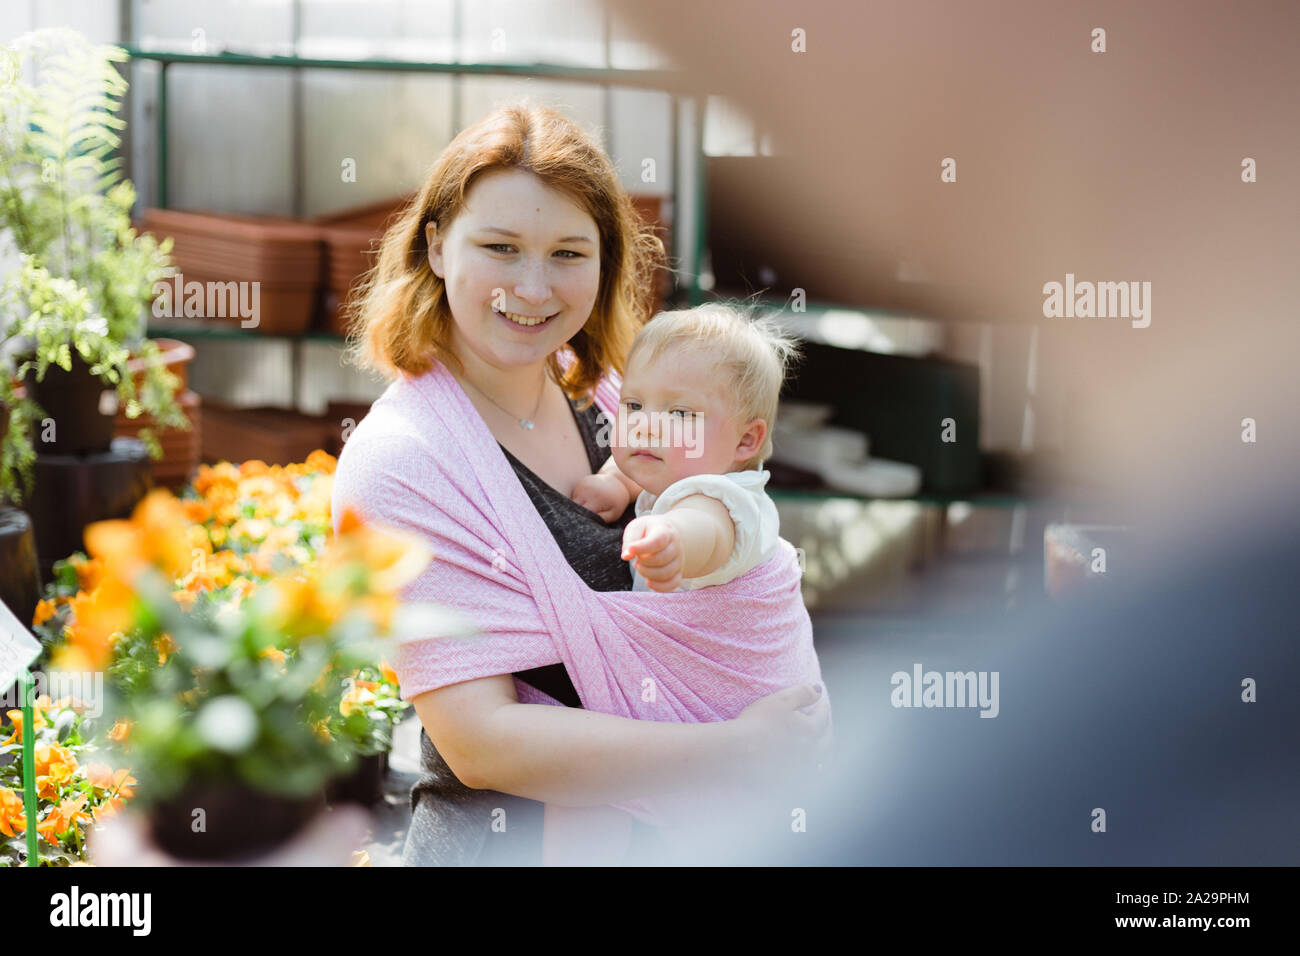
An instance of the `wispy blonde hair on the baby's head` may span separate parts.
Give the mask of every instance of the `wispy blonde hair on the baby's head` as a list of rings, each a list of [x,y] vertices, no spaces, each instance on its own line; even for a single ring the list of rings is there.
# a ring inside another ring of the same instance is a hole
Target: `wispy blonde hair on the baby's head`
[[[781,334],[770,319],[755,317],[750,306],[708,302],[694,308],[660,312],[637,333],[628,351],[633,356],[646,352],[654,362],[676,346],[707,349],[734,398],[736,423],[753,419],[767,423],[767,436],[753,458],[740,471],[757,468],[772,455],[772,428],[776,425],[776,403],[785,381],[785,372],[798,358],[796,339]]]

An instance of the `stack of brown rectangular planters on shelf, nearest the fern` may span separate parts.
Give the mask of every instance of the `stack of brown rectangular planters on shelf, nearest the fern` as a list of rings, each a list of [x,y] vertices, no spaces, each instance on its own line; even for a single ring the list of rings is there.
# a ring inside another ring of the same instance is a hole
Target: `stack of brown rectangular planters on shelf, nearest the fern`
[[[198,312],[272,336],[295,336],[311,326],[324,263],[316,226],[287,219],[146,209],[142,228],[174,241],[172,261],[179,274],[173,280],[169,317]],[[218,285],[229,282],[237,285]]]

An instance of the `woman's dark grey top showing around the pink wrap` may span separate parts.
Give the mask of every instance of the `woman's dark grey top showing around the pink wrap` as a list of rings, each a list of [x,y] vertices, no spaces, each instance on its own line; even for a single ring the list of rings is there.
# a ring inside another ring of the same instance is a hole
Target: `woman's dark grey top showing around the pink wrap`
[[[604,414],[595,405],[580,412],[573,399],[569,407],[595,472],[608,457],[608,449],[597,440]],[[632,572],[619,555],[623,529],[633,518],[632,505],[618,522],[606,524],[546,484],[504,447],[502,451],[564,558],[586,585],[593,591],[630,591]],[[533,667],[515,676],[568,706],[581,706],[563,663]],[[456,779],[421,728],[420,779],[411,788],[411,829],[402,862],[406,866],[538,865],[542,806],[536,800],[471,790]],[[634,839],[637,847],[653,845],[653,829],[637,823]]]

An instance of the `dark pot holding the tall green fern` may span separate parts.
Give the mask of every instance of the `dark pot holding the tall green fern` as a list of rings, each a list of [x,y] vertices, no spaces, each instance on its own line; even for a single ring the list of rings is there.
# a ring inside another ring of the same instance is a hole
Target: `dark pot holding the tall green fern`
[[[22,384],[27,398],[35,401],[53,420],[53,434],[46,437],[42,421],[34,423],[32,445],[38,454],[83,455],[108,451],[117,421],[117,395],[112,385],[98,375],[73,351],[73,369],[65,372],[58,365],[46,369],[46,377],[36,381],[36,371],[27,369]],[[104,393],[110,393],[105,397]],[[101,403],[103,401],[103,403]]]

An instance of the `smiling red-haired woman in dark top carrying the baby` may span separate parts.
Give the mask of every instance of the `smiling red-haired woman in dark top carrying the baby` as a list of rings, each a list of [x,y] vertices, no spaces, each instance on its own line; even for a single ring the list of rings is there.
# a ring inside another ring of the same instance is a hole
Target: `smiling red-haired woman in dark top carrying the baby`
[[[420,515],[442,503],[434,472],[417,459],[456,450],[430,451],[419,420],[393,410],[419,407],[396,398],[441,363],[573,571],[593,591],[630,589],[619,542],[632,509],[606,524],[569,492],[607,457],[592,397],[616,388],[662,256],[608,157],[560,113],[515,105],[460,133],[387,230],[356,303],[363,363],[398,381],[344,446],[334,514],[352,506],[430,533]],[[455,535],[430,545],[434,561],[416,592],[456,606],[465,575],[477,583],[486,572],[469,567]],[[500,607],[515,597],[502,591]],[[512,627],[504,611],[474,611],[484,631]],[[422,724],[408,865],[537,862],[538,801],[599,805],[754,780],[762,765],[770,774],[772,760],[792,763],[828,732],[810,687],[763,697],[732,721],[692,724],[586,711],[562,663],[438,684],[417,645],[403,649],[396,671]],[[516,679],[567,706],[521,704]]]

